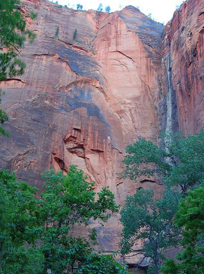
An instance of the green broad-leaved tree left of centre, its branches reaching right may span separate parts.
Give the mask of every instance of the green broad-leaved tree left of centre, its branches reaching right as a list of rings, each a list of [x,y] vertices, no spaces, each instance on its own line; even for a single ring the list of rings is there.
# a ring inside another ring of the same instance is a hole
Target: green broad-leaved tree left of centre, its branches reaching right
[[[67,265],[72,269],[92,252],[88,240],[71,236],[73,226],[88,226],[90,220],[97,219],[105,222],[111,212],[118,212],[118,206],[108,188],[96,195],[94,184],[89,184],[83,171],[75,166],[70,166],[67,175],[48,171],[44,178],[45,190],[40,199],[44,273],[50,269],[52,273],[61,274]],[[96,241],[95,230],[90,237]]]

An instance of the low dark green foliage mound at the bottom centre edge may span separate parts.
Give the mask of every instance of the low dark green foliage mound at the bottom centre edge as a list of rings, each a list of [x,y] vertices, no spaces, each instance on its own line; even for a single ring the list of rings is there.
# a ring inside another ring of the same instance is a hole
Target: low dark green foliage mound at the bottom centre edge
[[[112,255],[90,254],[79,265],[76,274],[128,274],[125,265],[115,261]]]

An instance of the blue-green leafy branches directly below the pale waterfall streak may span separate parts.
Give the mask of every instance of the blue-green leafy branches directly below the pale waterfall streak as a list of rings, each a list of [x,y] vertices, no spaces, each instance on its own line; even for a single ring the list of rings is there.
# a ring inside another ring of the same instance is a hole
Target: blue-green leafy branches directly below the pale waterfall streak
[[[204,130],[184,136],[181,132],[162,135],[162,146],[140,140],[127,146],[124,177],[160,176],[168,187],[200,184],[204,177]]]

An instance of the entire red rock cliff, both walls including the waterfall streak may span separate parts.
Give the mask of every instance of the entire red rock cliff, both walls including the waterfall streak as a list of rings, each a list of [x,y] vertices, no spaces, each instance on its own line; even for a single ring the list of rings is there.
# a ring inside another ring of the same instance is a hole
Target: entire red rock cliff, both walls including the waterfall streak
[[[189,133],[203,125],[203,3],[183,4],[163,31],[132,6],[107,14],[22,0],[23,13],[38,13],[26,17],[37,38],[21,50],[25,73],[1,83],[11,137],[1,138],[0,167],[41,189],[45,169],[75,164],[119,204],[140,186],[162,191],[154,179],[124,180],[122,159],[128,144],[157,142],[178,120]],[[119,216],[92,226],[99,249],[118,249]]]

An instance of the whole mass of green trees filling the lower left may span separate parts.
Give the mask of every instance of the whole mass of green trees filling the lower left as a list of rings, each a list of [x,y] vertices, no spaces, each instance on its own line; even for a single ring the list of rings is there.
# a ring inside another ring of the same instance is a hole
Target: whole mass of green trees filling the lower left
[[[18,182],[14,173],[0,171],[0,272],[4,274],[127,273],[110,255],[94,253],[95,229],[88,238],[73,236],[73,228],[92,220],[105,223],[118,212],[107,187],[98,194],[82,170],[70,166],[67,175],[43,174],[44,190]],[[96,260],[96,261],[93,261]]]

